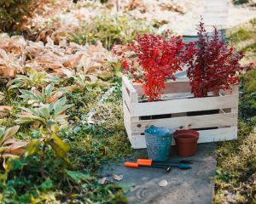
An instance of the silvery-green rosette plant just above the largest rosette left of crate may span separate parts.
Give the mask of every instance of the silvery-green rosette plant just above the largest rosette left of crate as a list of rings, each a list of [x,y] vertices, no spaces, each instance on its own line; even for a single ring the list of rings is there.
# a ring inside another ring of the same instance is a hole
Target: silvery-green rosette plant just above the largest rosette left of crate
[[[38,90],[29,91],[26,89],[20,89],[20,97],[27,101],[27,104],[31,105],[40,105],[40,104],[49,104],[55,102],[61,96],[67,93],[67,90],[60,88],[54,91],[55,84],[50,83],[46,88],[42,88],[42,91]]]

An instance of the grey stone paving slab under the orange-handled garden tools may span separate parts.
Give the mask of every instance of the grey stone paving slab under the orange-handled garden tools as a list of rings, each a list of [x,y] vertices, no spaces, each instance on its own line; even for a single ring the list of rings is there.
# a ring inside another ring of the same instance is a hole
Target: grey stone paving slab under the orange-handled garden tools
[[[123,174],[123,180],[114,182],[125,187],[130,203],[209,204],[214,193],[216,146],[213,143],[199,144],[197,154],[186,158],[194,161],[189,170],[172,168],[171,173],[166,173],[164,169],[150,167],[123,167],[123,162],[119,162],[105,165],[101,174]],[[146,155],[146,150],[136,150],[134,157],[145,158]],[[181,158],[176,155],[174,147],[171,155],[171,160]],[[168,182],[166,187],[159,186],[163,179]]]

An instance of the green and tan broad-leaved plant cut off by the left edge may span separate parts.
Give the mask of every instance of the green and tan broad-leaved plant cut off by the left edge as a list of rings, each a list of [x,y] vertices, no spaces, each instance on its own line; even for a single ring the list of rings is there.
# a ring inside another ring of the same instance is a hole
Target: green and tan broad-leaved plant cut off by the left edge
[[[8,169],[9,159],[19,158],[24,153],[26,142],[13,139],[20,126],[0,127],[0,161],[5,169]]]

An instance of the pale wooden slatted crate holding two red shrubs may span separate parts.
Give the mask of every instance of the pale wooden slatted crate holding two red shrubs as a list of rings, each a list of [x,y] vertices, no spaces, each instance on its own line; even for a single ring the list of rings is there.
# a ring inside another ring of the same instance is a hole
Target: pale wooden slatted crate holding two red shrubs
[[[190,94],[189,81],[165,84],[164,100],[139,103],[138,99],[143,95],[142,84],[132,84],[127,77],[123,77],[124,122],[132,148],[146,148],[143,132],[151,125],[175,130],[197,129],[200,132],[199,143],[237,138],[237,85],[230,90],[220,90],[219,95],[194,98]],[[215,110],[212,114],[198,112],[212,110]],[[191,116],[191,112],[196,112],[196,116]]]

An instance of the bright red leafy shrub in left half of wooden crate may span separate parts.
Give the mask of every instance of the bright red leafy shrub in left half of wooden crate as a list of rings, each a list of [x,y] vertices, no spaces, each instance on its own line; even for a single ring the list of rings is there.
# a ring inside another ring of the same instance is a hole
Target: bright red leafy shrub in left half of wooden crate
[[[137,41],[125,47],[126,51],[131,52],[130,58],[123,53],[120,59],[135,81],[143,83],[148,101],[155,101],[160,100],[166,79],[175,80],[173,74],[182,71],[183,65],[193,54],[192,46],[189,48],[185,49],[182,37],[171,36],[169,31],[162,36],[144,34],[138,35]],[[136,64],[143,68],[142,72],[136,70]]]

